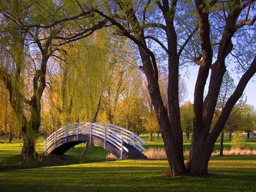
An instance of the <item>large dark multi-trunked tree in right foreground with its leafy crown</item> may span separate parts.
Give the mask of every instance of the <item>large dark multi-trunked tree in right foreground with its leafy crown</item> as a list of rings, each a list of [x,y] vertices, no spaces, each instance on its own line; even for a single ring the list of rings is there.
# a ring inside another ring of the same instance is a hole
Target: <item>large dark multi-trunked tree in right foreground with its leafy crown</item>
[[[138,46],[141,69],[147,77],[148,92],[156,110],[170,173],[174,176],[207,175],[214,143],[232,108],[243,95],[246,84],[256,72],[253,52],[255,1],[113,0],[90,10],[108,19],[120,35],[127,36]],[[167,106],[164,106],[159,89],[156,52],[149,40],[159,44],[166,52]],[[241,56],[241,52],[246,58]],[[241,69],[241,79],[211,129],[228,61],[236,59],[237,67]],[[194,93],[193,140],[185,164],[179,109],[179,67],[181,61],[188,60],[196,63],[199,69]],[[204,97],[208,78],[209,88]]]

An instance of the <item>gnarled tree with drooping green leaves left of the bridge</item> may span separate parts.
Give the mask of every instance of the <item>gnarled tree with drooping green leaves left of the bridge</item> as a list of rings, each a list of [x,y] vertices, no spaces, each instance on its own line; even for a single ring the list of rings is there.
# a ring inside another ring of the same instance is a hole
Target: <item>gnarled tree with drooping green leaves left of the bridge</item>
[[[65,9],[65,8],[69,9]],[[62,8],[62,9],[61,9]],[[67,19],[77,8],[72,3],[55,1],[1,1],[0,77],[10,95],[10,104],[19,119],[23,134],[22,156],[36,154],[37,133],[41,124],[41,99],[46,86],[47,63],[58,58],[59,46],[73,42],[102,28],[105,20],[91,20],[91,12]],[[78,8],[79,10],[79,8]],[[54,22],[54,24],[52,24]],[[95,26],[94,24],[97,24]],[[78,28],[76,34],[68,30]],[[30,84],[24,86],[24,77]],[[28,92],[28,90],[30,90]]]

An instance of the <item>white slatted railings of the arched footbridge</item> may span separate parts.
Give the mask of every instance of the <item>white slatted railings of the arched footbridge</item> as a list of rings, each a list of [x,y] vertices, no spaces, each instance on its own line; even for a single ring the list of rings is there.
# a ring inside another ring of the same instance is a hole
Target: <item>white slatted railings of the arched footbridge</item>
[[[77,136],[78,141],[79,135],[81,134],[90,136],[90,142],[92,141],[92,136],[101,138],[104,140],[104,148],[106,148],[107,143],[111,143],[111,145],[120,150],[121,157],[122,152],[129,152],[128,148],[124,146],[124,143],[132,145],[140,151],[145,150],[145,148],[142,146],[145,141],[133,132],[124,129],[123,127],[104,123],[75,123],[61,127],[46,138],[44,141],[45,154],[47,149],[52,145],[54,145],[54,148],[56,148],[57,141],[63,140],[63,138],[65,138],[66,143],[67,137],[74,135]]]

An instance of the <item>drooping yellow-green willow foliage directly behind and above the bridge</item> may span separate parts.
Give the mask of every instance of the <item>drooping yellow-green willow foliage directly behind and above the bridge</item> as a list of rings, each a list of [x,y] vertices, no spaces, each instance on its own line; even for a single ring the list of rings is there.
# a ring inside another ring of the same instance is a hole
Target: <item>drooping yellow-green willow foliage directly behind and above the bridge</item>
[[[95,122],[102,106],[102,97],[109,84],[111,62],[109,43],[104,31],[63,47],[59,72],[51,76],[53,116],[63,126],[71,122]]]

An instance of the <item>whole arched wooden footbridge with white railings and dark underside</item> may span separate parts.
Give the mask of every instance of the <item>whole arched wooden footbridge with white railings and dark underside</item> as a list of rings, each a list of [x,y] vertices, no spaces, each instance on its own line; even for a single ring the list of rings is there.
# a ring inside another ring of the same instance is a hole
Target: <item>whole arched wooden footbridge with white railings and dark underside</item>
[[[44,154],[64,154],[79,143],[92,143],[111,152],[118,159],[145,159],[139,136],[113,124],[75,123],[61,127],[44,141]],[[87,144],[86,144],[87,145]]]

